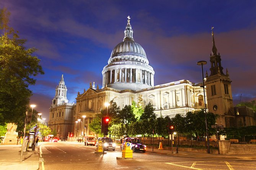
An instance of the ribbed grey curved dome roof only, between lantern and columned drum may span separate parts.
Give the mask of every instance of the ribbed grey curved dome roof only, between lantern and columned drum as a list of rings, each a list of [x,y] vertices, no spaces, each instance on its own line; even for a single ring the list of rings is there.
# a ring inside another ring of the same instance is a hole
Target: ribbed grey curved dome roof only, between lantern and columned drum
[[[110,58],[125,54],[134,54],[143,58],[147,58],[145,50],[141,47],[139,43],[134,42],[134,40],[124,40],[123,42],[117,44],[116,47],[113,49]]]

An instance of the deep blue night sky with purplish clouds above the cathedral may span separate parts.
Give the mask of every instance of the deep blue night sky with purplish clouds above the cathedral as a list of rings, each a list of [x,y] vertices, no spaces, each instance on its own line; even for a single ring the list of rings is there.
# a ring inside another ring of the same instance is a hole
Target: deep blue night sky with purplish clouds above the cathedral
[[[256,99],[255,0],[1,0],[11,12],[10,26],[27,39],[41,59],[31,104],[49,119],[49,107],[61,75],[67,98],[90,82],[102,87],[102,70],[124,38],[127,16],[134,40],[155,71],[155,85],[189,80],[202,82],[201,66],[210,73],[211,27],[215,45],[232,80],[234,104]],[[204,73],[205,75],[205,73]]]

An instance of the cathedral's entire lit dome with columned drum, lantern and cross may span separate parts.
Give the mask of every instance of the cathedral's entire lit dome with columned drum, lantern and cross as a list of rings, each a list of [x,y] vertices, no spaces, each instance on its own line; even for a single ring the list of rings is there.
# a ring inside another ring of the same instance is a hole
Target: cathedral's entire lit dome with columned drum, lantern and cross
[[[127,17],[124,39],[113,49],[108,65],[103,68],[102,88],[141,90],[154,86],[154,70],[145,50],[134,42],[130,17]]]

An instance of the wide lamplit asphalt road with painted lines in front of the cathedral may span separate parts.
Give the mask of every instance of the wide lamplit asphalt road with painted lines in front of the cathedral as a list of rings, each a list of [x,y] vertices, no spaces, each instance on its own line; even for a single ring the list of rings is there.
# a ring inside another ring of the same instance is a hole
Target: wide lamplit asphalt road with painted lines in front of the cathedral
[[[96,146],[85,146],[82,143],[57,142],[41,145],[41,169],[45,170],[254,170],[255,161],[235,159],[199,159],[177,157],[151,152],[134,152],[133,159],[122,157],[119,148],[97,154]]]

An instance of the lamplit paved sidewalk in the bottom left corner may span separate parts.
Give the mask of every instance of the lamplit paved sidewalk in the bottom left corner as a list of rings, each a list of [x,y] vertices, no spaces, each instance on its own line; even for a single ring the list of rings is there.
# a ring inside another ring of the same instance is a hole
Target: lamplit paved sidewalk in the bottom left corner
[[[35,151],[23,152],[23,161],[20,162],[21,144],[20,145],[3,145],[0,144],[0,169],[1,170],[38,170],[39,155],[38,149],[42,143],[38,142]]]

